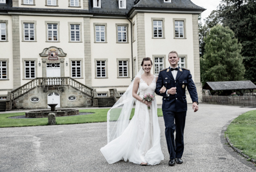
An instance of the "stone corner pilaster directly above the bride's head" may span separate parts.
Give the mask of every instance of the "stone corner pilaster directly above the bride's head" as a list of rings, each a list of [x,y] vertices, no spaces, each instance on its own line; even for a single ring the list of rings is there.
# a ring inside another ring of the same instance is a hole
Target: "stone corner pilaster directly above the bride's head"
[[[138,71],[141,69],[141,62],[146,57],[146,43],[145,43],[145,19],[144,13],[138,13],[136,15],[137,24],[137,64]]]

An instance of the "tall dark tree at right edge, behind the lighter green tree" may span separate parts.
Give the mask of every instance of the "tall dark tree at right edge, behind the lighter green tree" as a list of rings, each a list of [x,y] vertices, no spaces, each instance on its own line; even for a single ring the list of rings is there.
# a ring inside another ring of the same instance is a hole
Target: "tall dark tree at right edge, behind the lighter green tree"
[[[242,44],[246,72],[244,77],[256,83],[256,0],[222,0],[219,16]]]

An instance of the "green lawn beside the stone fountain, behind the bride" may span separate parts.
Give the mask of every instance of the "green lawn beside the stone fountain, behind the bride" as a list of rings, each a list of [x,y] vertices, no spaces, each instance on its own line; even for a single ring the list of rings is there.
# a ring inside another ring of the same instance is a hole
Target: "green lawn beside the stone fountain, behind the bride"
[[[56,123],[61,124],[82,124],[92,122],[106,122],[106,114],[110,109],[90,109],[79,110],[80,112],[93,112],[90,115],[77,115],[68,117],[56,117]],[[23,126],[46,126],[48,125],[48,118],[37,119],[8,119],[8,117],[25,115],[25,113],[4,113],[0,114],[0,128],[4,127],[23,127]],[[134,115],[134,108],[132,110],[131,118]],[[157,109],[157,115],[162,116],[162,110]]]

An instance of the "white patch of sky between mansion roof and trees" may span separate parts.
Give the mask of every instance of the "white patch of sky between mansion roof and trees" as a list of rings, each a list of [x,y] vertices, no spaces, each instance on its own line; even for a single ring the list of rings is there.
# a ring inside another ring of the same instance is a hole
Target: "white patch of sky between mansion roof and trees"
[[[217,6],[221,3],[221,0],[190,0],[195,5],[201,6],[202,8],[206,8],[204,12],[202,12],[202,19],[206,19],[213,10],[217,10]],[[202,20],[203,22],[203,20]]]

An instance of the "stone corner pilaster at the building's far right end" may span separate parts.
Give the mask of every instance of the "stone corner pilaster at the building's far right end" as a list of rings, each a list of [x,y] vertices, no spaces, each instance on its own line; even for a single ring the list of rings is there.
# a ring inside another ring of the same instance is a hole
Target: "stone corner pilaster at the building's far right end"
[[[202,102],[202,83],[200,77],[200,55],[199,55],[199,30],[198,15],[192,14],[193,24],[193,61],[194,61],[194,78],[195,86],[197,86],[197,94],[199,101]]]

